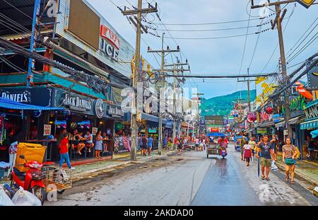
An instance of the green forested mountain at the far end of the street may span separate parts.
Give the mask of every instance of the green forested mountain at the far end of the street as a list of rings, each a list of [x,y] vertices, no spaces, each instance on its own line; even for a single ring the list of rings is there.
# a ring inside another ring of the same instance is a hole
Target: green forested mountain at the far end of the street
[[[256,99],[257,91],[251,91],[251,102]],[[247,103],[249,100],[248,91],[237,91],[230,95],[222,95],[214,98],[201,101],[201,115],[228,115],[234,108],[234,103],[242,97],[242,103]]]

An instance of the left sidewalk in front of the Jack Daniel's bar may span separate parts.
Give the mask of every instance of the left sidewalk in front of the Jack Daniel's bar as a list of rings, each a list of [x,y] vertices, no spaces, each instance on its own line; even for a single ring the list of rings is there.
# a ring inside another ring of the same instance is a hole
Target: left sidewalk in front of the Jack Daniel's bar
[[[163,150],[161,155],[158,155],[158,151],[152,151],[151,156],[141,156],[137,153],[137,161],[130,161],[130,153],[126,154],[126,157],[117,157],[114,159],[89,159],[86,161],[78,161],[77,163],[72,163],[75,170],[72,171],[73,182],[78,180],[83,180],[86,178],[91,178],[93,176],[99,175],[100,173],[110,172],[116,167],[129,166],[131,163],[143,163],[145,161],[151,160],[153,158],[160,158],[162,156],[167,156],[175,151]],[[0,185],[4,183],[10,183],[10,180],[3,179],[0,180]]]

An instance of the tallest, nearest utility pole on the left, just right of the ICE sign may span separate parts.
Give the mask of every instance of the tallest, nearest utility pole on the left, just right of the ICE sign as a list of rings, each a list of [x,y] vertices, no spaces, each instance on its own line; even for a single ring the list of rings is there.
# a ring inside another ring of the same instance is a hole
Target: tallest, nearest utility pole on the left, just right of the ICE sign
[[[142,0],[138,0],[138,8],[137,10],[125,10],[122,11],[122,14],[124,16],[129,16],[129,15],[137,15],[136,18],[136,55],[135,55],[135,70],[133,74],[133,87],[136,89],[138,81],[142,80],[139,77],[139,62],[140,62],[140,48],[141,48],[141,28],[145,30],[143,25],[141,24],[141,14],[143,13],[156,13],[158,12],[157,9],[157,4],[155,4],[155,8],[151,6],[151,4],[148,4],[148,8],[142,8]],[[138,136],[138,126],[137,126],[137,97],[134,97],[134,100],[131,105],[131,154],[130,154],[130,159],[131,161],[137,161],[137,136]]]

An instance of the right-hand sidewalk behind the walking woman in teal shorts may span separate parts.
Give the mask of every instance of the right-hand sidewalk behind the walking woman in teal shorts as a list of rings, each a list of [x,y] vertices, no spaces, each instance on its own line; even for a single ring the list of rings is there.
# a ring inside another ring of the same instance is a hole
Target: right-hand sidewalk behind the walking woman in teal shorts
[[[282,154],[277,154],[276,165],[280,170],[285,171],[285,163],[283,163]],[[318,185],[318,163],[312,161],[297,161],[295,167],[295,178],[306,180],[310,185],[316,187]]]

